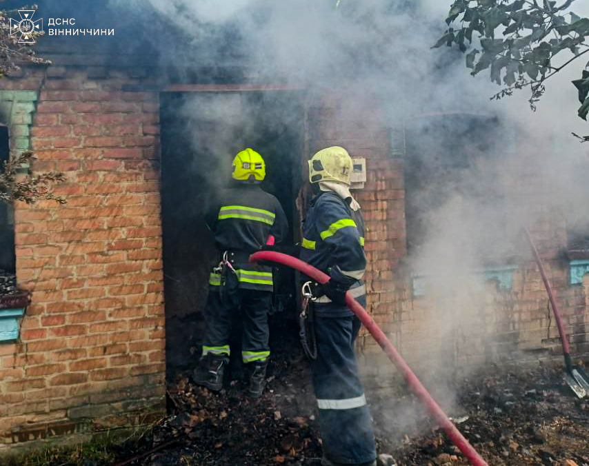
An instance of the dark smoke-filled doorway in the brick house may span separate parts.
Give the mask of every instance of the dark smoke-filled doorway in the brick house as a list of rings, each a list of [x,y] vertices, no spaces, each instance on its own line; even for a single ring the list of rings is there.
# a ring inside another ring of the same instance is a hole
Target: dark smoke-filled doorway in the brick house
[[[215,191],[230,180],[244,148],[267,165],[263,190],[274,194],[298,230],[304,119],[297,92],[167,92],[161,97],[163,267],[168,376],[194,366],[202,310],[217,252],[204,221]],[[294,228],[293,228],[294,227]],[[275,271],[274,310],[294,315],[295,277]]]

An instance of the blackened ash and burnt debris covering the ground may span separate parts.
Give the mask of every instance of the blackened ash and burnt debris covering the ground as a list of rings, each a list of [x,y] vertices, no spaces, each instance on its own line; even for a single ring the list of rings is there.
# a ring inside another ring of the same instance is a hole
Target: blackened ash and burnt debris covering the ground
[[[219,394],[194,386],[190,372],[178,374],[168,387],[170,415],[139,442],[122,445],[117,457],[121,462],[136,458],[126,465],[319,466],[308,362],[297,341],[281,339],[272,349],[261,398],[245,395],[245,374],[236,370]],[[402,391],[399,386],[397,392]],[[572,395],[561,367],[491,367],[457,381],[455,391],[457,409],[448,415],[489,465],[589,465],[589,400]],[[374,396],[370,401],[377,447],[388,464],[468,464],[446,435],[431,427],[433,421],[411,394],[391,394],[386,409]],[[405,409],[413,403],[422,418],[414,427],[401,419],[395,425],[395,403]]]

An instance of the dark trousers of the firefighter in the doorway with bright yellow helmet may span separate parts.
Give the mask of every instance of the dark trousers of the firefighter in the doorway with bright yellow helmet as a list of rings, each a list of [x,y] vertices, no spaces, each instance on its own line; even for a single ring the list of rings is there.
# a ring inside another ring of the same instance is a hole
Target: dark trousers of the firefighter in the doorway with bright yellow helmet
[[[229,356],[232,319],[240,313],[243,323],[241,357],[244,363],[266,361],[268,347],[268,313],[272,292],[239,287],[237,277],[228,273],[226,284],[210,287],[206,305],[206,334],[203,356],[208,353]]]

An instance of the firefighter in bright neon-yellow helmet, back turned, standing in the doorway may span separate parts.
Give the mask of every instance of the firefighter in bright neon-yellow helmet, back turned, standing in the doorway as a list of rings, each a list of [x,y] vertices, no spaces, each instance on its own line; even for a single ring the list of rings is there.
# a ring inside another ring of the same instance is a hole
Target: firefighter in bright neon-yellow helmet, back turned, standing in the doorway
[[[272,305],[272,268],[248,263],[269,238],[282,241],[288,222],[272,194],[261,190],[266,163],[258,152],[246,149],[233,161],[232,185],[217,196],[207,224],[219,250],[219,265],[209,278],[206,334],[202,357],[194,371],[198,385],[218,391],[223,367],[229,361],[231,320],[241,312],[241,357],[250,368],[251,396],[261,396],[270,356],[268,312]]]

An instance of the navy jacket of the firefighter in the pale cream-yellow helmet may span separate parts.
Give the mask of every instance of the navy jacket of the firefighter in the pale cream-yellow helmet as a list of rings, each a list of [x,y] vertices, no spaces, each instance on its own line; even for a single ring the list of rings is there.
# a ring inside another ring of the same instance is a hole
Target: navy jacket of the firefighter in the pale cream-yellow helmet
[[[303,223],[301,259],[331,276],[333,281],[350,287],[355,298],[366,294],[361,279],[366,272],[364,220],[348,201],[334,192],[321,192],[312,199]],[[317,304],[330,303],[326,296]],[[321,313],[321,306],[317,307]],[[351,314],[342,309],[339,312]]]

